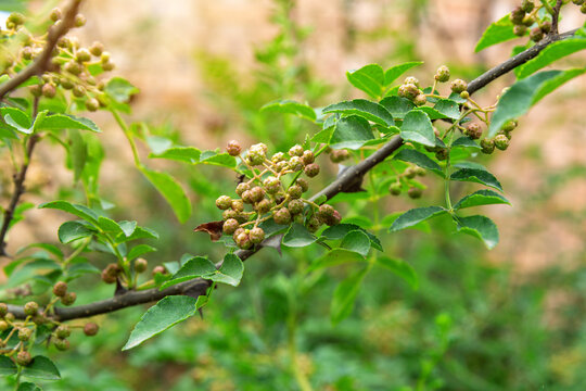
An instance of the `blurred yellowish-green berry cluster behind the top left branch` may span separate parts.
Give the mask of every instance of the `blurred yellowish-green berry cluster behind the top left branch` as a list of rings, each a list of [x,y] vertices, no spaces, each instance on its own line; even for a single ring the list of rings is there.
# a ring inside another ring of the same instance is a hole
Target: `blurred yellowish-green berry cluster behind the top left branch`
[[[51,11],[51,21],[54,25],[62,23],[62,11],[56,8]],[[27,66],[43,51],[47,43],[46,36],[35,37],[24,26],[25,16],[12,13],[7,20],[7,30],[0,31],[3,39],[14,38],[22,48],[16,53],[3,55],[0,64],[2,74],[13,74]],[[75,16],[75,27],[86,24],[82,14]],[[52,52],[51,68],[37,78],[37,84],[29,86],[35,97],[53,98],[58,88],[69,90],[78,108],[97,111],[106,104],[104,94],[105,84],[97,80],[95,75],[114,70],[115,65],[110,53],[104,51],[101,42],[93,42],[84,48],[75,37],[62,37]]]

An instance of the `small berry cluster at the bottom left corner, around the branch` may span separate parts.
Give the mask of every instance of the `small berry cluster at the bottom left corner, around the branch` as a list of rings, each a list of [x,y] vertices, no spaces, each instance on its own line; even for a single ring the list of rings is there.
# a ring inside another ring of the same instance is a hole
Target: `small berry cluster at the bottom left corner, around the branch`
[[[67,338],[72,333],[71,328],[48,316],[51,307],[61,301],[63,305],[72,305],[76,294],[67,292],[67,283],[59,281],[53,286],[53,300],[41,308],[37,302],[28,302],[24,305],[24,320],[17,320],[14,314],[9,312],[5,303],[0,303],[0,354],[13,357],[14,362],[21,366],[26,366],[33,360],[30,349],[35,339],[39,335],[38,327],[44,325],[51,329],[48,341],[56,349],[64,351],[69,349]],[[84,333],[88,337],[95,336],[99,327],[94,323],[87,323],[82,327]],[[17,341],[13,337],[16,337]],[[42,337],[44,338],[44,337]]]

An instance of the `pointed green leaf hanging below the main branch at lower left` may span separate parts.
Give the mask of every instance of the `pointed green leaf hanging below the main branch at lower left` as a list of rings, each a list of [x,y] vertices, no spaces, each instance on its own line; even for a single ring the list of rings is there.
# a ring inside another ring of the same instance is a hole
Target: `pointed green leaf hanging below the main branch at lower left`
[[[160,300],[142,315],[123,351],[138,346],[196,313],[196,300],[187,295],[170,295]]]

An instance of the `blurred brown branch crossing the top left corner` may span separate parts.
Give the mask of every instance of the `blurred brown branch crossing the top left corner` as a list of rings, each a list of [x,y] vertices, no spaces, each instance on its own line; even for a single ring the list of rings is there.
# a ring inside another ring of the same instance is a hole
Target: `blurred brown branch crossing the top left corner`
[[[26,68],[18,72],[13,78],[0,85],[0,100],[2,100],[7,93],[18,88],[20,85],[28,80],[30,77],[35,75],[42,75],[47,70],[49,70],[51,66],[51,55],[53,50],[55,49],[59,39],[67,34],[72,27],[74,27],[75,15],[77,15],[81,1],[82,0],[72,0],[69,7],[67,7],[67,10],[63,15],[63,18],[61,20],[61,23],[56,23],[49,28],[49,33],[47,35],[47,45],[39,56],[37,56],[37,59]]]

